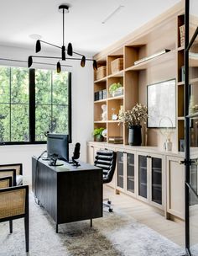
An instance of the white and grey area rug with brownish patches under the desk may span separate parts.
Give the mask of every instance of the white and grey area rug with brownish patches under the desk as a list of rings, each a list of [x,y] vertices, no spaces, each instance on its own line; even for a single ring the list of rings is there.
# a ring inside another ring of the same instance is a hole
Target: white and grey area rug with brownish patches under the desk
[[[181,256],[185,250],[152,229],[124,216],[119,209],[104,211],[103,218],[77,221],[59,226],[34,203],[30,195],[30,250],[25,253],[23,219],[13,221],[13,234],[8,222],[0,223],[1,256]]]

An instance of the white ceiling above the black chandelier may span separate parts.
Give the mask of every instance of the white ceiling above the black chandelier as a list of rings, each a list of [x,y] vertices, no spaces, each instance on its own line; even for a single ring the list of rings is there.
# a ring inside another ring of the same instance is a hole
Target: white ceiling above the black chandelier
[[[62,45],[61,3],[70,3],[65,14],[65,41],[74,50],[96,54],[180,0],[0,0],[0,45],[34,48],[37,34]],[[123,8],[106,24],[102,21],[120,5]],[[47,46],[44,46],[47,47]],[[51,48],[51,47],[50,47]],[[49,50],[50,50],[49,48]]]

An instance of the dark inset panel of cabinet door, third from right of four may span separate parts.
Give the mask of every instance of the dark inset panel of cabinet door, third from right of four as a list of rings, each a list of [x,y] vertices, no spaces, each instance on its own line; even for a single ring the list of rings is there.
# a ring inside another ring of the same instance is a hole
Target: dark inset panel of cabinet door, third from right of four
[[[135,193],[135,166],[133,153],[127,153],[127,190]]]

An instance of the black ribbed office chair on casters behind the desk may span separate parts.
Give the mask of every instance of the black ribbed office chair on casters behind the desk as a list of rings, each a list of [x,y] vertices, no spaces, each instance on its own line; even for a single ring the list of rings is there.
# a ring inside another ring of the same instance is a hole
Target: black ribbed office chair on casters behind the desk
[[[116,168],[117,152],[112,150],[99,150],[96,152],[94,165],[103,170],[103,184],[112,181],[113,174]],[[103,199],[103,205],[108,207],[108,211],[112,212],[112,202],[107,198]],[[107,203],[105,203],[107,201]]]

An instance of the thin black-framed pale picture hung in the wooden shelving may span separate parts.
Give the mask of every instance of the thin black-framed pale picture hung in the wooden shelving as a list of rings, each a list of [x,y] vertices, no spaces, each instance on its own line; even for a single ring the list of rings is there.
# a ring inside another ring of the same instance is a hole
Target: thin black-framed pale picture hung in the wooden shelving
[[[176,80],[147,86],[148,128],[176,127]]]

